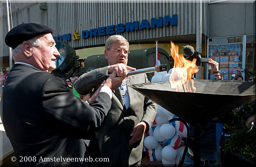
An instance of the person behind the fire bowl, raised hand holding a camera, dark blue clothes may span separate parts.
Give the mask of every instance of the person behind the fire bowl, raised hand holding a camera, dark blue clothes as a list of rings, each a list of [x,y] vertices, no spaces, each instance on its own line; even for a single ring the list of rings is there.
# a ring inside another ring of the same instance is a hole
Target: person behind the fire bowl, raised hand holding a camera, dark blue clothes
[[[215,80],[223,80],[220,70],[218,69],[218,62],[209,58],[208,65],[211,66],[212,72],[215,75]],[[205,126],[204,130],[200,132],[200,153],[202,165],[217,165],[218,161],[218,149],[221,143],[221,135],[223,132],[223,124],[209,121]],[[194,126],[189,127],[190,136],[193,138]],[[189,144],[186,157],[184,159],[184,165],[194,164],[194,143],[193,141]]]

